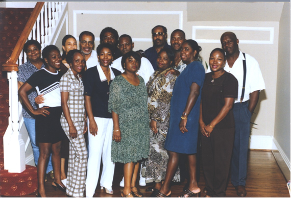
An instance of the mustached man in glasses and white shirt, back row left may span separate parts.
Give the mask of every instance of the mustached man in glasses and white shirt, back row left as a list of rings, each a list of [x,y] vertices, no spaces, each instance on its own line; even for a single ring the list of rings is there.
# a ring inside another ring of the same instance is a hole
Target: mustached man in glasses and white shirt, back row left
[[[84,31],[79,35],[80,50],[85,55],[87,69],[98,63],[97,53],[93,50],[94,41],[95,36],[89,31]]]

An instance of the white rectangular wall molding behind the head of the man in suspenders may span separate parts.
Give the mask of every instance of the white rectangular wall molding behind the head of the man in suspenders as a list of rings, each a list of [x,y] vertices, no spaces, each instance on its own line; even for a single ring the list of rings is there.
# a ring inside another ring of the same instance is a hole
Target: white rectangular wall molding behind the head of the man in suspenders
[[[196,39],[196,30],[225,30],[225,31],[268,31],[270,32],[270,40],[239,40],[243,44],[274,44],[274,27],[238,27],[238,26],[193,26],[192,39],[198,43],[221,43],[216,39]]]

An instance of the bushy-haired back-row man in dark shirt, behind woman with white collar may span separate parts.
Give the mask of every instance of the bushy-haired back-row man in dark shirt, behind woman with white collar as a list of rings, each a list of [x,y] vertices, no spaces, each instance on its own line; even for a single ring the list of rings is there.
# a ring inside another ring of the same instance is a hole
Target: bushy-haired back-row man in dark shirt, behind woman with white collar
[[[109,43],[114,47],[114,60],[122,56],[122,53],[117,48],[118,38],[118,32],[111,27],[104,28],[100,33],[100,43]]]

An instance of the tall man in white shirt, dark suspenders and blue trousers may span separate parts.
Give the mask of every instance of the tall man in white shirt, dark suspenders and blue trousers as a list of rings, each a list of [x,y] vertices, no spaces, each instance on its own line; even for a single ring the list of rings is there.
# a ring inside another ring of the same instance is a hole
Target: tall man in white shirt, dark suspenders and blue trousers
[[[260,90],[265,89],[258,62],[238,49],[238,39],[232,32],[221,36],[226,53],[225,70],[238,81],[238,96],[234,102],[235,138],[231,161],[231,183],[238,196],[246,196],[247,155],[250,136],[250,121],[259,100]],[[208,68],[210,71],[210,69]]]

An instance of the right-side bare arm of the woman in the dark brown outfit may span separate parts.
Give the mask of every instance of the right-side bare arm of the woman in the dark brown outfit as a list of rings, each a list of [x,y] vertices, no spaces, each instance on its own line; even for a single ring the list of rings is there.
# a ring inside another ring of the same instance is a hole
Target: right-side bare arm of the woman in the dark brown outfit
[[[227,116],[228,112],[232,109],[234,98],[233,97],[225,97],[224,98],[225,104],[223,108],[220,110],[219,114],[210,122],[209,125],[205,127],[206,136],[210,137],[213,128],[219,123],[221,120]],[[210,127],[211,125],[211,127]]]

